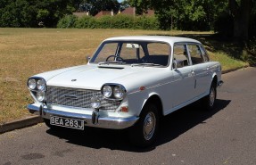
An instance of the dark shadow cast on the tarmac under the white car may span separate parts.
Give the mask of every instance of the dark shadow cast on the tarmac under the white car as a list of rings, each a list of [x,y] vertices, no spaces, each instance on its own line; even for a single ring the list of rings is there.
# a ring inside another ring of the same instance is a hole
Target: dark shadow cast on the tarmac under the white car
[[[216,100],[216,108],[213,111],[202,111],[200,102],[197,102],[169,114],[161,119],[161,127],[156,143],[145,149],[136,148],[128,142],[128,131],[126,129],[86,128],[85,131],[79,131],[60,128],[57,130],[48,129],[46,132],[52,136],[65,139],[70,144],[78,144],[95,149],[108,148],[111,150],[146,153],[161,144],[169,143],[196,125],[205,123],[205,120],[223,110],[229,103],[229,100]]]

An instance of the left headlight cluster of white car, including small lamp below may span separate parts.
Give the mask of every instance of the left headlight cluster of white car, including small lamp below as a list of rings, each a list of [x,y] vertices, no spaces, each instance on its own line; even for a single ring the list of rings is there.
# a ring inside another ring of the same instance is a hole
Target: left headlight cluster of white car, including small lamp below
[[[29,87],[31,95],[33,95],[38,102],[45,101],[46,81],[44,78],[29,78],[27,86]]]

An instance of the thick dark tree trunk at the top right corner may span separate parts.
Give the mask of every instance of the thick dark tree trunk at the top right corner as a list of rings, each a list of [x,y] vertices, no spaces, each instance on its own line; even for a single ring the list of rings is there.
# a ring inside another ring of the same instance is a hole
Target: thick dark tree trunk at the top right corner
[[[250,14],[253,0],[241,0],[240,5],[235,0],[228,0],[230,11],[234,16],[235,39],[247,40],[249,37]]]

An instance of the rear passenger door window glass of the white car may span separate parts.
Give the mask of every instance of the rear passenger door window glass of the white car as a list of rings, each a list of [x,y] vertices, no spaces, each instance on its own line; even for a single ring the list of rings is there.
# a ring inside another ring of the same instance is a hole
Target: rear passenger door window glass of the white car
[[[199,45],[187,45],[187,47],[194,65],[204,62]]]

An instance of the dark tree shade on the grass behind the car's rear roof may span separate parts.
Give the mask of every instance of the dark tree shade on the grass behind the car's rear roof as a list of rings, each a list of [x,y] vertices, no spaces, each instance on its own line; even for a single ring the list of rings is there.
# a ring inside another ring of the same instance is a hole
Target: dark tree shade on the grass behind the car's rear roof
[[[153,36],[170,36],[170,35],[159,35],[155,34]],[[189,37],[194,38],[202,42],[205,45],[207,51],[212,53],[223,52],[229,57],[243,62],[249,62],[250,65],[256,64],[256,54],[252,54],[245,47],[244,42],[234,41],[228,37],[220,37],[216,34],[182,34],[176,35],[176,37]]]

